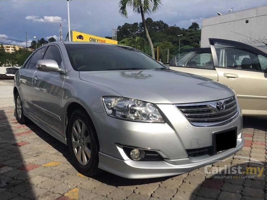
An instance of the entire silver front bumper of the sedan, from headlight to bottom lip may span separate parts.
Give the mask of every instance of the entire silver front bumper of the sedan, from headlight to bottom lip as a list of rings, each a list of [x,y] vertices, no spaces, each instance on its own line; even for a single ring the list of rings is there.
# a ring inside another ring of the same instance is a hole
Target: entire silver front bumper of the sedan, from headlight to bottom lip
[[[178,175],[224,159],[243,147],[242,114],[228,124],[214,127],[193,126],[183,114],[171,104],[158,104],[165,123],[129,122],[111,118],[106,113],[88,111],[99,139],[99,168],[126,178],[155,178]],[[188,157],[187,149],[213,145],[215,132],[237,128],[237,146],[216,155]],[[197,145],[192,143],[197,140]],[[164,161],[133,161],[121,147],[158,149]]]

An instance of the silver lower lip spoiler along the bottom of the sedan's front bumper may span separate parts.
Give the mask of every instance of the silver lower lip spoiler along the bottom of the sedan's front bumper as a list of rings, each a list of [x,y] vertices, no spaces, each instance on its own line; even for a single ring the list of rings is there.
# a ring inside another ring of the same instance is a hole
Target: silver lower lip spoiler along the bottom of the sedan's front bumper
[[[99,153],[99,168],[112,174],[129,179],[146,179],[163,176],[174,176],[192,171],[199,167],[220,161],[238,152],[244,145],[244,138],[237,140],[237,146],[213,156],[199,156],[176,160],[164,159],[162,162],[138,162],[133,160],[121,160]]]

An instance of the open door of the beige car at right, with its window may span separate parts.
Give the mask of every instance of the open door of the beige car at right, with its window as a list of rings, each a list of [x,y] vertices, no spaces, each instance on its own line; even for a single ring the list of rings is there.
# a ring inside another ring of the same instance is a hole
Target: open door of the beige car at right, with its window
[[[219,82],[233,88],[244,115],[267,115],[267,55],[240,42],[210,39]]]

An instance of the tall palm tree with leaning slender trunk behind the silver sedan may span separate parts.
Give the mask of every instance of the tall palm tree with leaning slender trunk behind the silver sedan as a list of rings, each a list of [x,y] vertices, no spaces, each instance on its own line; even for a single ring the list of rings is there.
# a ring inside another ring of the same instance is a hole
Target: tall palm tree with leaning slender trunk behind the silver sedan
[[[126,9],[127,6],[132,7],[134,9],[134,12],[141,13],[143,27],[151,48],[152,58],[154,59],[155,59],[155,51],[153,43],[151,41],[151,38],[147,30],[145,14],[156,12],[159,9],[160,5],[161,5],[161,0],[120,0],[119,2],[119,9],[120,9],[119,12],[122,16],[127,18],[127,9]]]

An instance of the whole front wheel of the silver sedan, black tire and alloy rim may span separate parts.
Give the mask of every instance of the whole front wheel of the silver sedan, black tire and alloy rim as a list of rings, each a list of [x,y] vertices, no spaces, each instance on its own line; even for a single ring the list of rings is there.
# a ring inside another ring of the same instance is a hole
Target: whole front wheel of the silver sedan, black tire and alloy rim
[[[96,175],[99,171],[97,134],[85,111],[72,113],[67,137],[75,169],[85,176]]]

